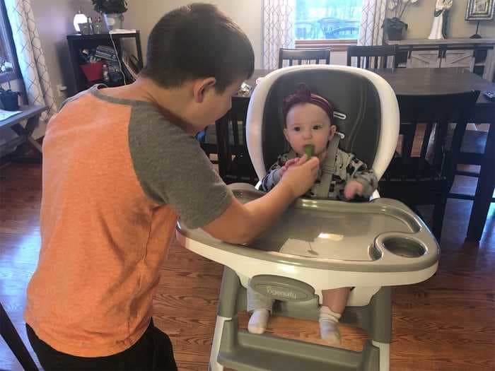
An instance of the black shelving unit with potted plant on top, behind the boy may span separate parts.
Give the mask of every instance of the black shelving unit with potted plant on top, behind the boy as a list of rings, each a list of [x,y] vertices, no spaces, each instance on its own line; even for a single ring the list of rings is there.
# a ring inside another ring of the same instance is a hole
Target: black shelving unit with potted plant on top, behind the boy
[[[81,64],[85,64],[79,51],[81,49],[93,49],[98,47],[98,45],[107,45],[113,47],[112,40],[115,42],[115,47],[117,48],[118,57],[122,58],[122,39],[134,39],[136,43],[137,50],[137,67],[139,70],[143,68],[143,54],[141,51],[141,39],[139,38],[139,30],[135,33],[114,33],[112,34],[112,39],[110,39],[110,34],[100,33],[95,35],[67,35],[67,42],[69,44],[69,55],[71,59],[72,71],[74,73],[74,86],[76,91],[74,93],[79,93],[83,90],[90,88],[94,83],[103,81],[91,81],[89,82],[84,76],[81,70]],[[122,61],[122,59],[121,59]],[[107,84],[108,85],[108,84]]]

